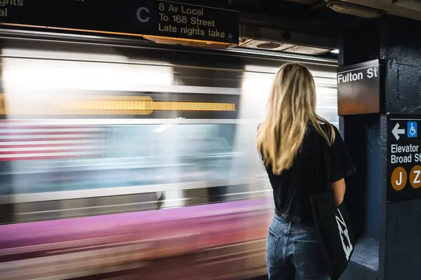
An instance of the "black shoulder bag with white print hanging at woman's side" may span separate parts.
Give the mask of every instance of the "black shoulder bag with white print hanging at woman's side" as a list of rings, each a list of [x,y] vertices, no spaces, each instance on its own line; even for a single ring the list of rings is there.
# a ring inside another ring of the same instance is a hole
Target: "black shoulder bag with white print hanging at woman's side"
[[[337,280],[347,268],[354,253],[355,235],[345,202],[335,207],[330,182],[332,167],[328,147],[324,148],[323,154],[328,186],[323,193],[313,195],[311,200],[317,233],[330,265],[330,278]]]

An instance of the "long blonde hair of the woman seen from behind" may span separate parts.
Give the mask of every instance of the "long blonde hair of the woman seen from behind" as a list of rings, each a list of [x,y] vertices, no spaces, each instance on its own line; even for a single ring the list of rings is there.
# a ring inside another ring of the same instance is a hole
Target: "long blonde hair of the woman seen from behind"
[[[307,125],[333,144],[332,125],[316,114],[316,85],[312,73],[298,63],[281,66],[274,78],[266,120],[258,128],[258,151],[274,174],[293,165],[305,137]],[[326,124],[323,130],[321,124]]]

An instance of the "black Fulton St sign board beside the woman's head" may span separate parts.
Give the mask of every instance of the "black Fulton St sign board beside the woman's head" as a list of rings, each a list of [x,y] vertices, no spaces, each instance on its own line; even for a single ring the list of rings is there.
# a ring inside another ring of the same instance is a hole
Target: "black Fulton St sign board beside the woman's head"
[[[338,68],[338,114],[380,112],[380,59]]]

